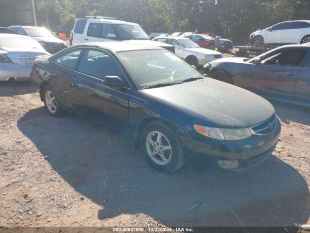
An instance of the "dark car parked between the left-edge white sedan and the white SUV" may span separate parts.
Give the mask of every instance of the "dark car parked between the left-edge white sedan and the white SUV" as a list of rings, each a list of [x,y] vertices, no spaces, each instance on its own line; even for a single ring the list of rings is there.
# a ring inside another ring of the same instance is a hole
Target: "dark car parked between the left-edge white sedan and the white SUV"
[[[6,33],[28,35],[33,39],[36,39],[42,47],[47,50],[47,52],[52,54],[67,48],[64,41],[54,36],[46,28],[17,25],[8,27]]]

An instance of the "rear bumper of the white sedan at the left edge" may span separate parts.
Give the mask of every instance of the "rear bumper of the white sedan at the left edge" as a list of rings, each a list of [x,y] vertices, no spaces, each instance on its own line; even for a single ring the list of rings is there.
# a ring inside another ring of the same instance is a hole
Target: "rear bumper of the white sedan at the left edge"
[[[0,64],[0,81],[7,81],[14,78],[16,81],[30,80],[31,67],[23,67],[16,63]]]

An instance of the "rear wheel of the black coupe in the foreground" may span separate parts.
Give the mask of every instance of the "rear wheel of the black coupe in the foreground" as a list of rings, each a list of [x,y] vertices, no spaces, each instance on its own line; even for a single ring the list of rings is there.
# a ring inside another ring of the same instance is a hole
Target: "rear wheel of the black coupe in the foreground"
[[[62,106],[59,101],[56,99],[54,90],[47,85],[43,90],[44,105],[47,108],[47,112],[50,116],[61,116],[62,115]]]

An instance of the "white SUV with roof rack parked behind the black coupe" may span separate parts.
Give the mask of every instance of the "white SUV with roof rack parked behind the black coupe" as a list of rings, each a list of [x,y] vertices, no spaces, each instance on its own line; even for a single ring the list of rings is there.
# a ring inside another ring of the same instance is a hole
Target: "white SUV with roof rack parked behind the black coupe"
[[[174,47],[152,41],[137,23],[116,20],[111,17],[78,18],[72,32],[72,44],[95,41],[124,40],[139,44],[154,45],[174,53]]]

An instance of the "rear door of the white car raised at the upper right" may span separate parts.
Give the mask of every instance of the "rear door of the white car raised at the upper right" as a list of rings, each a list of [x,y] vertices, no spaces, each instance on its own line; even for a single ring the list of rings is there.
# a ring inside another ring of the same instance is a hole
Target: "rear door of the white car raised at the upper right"
[[[301,38],[306,35],[310,28],[310,24],[303,21],[293,21],[290,24],[290,29],[287,30],[286,43],[300,44]]]

